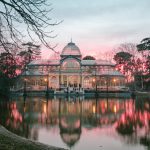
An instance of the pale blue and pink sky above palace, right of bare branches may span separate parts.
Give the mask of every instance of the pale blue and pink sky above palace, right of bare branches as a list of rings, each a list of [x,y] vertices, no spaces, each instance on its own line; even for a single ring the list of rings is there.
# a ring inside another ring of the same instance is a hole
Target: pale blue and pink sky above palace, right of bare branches
[[[54,30],[51,45],[58,44],[56,51],[61,52],[71,38],[80,48],[83,56],[112,51],[122,43],[140,43],[149,37],[150,1],[149,0],[51,0],[53,20],[63,20]],[[43,58],[52,52],[42,47]]]

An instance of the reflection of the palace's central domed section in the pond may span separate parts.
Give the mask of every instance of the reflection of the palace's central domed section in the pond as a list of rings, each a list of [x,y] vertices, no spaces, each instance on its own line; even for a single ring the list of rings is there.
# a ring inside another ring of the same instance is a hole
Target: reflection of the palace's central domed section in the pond
[[[69,147],[73,146],[81,135],[81,102],[68,103],[59,102],[59,128],[64,143]]]

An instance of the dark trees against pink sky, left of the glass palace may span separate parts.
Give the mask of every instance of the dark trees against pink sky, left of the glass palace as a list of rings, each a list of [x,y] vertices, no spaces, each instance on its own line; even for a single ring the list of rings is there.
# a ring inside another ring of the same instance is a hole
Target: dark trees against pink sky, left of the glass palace
[[[27,64],[40,57],[41,50],[39,45],[28,42],[21,45],[5,43],[0,51],[0,95],[9,95],[16,78]]]

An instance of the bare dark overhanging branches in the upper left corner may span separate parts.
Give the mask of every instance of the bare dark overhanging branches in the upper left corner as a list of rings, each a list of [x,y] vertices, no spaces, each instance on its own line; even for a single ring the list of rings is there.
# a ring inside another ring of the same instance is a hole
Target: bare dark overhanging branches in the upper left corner
[[[49,12],[50,4],[47,0],[0,0],[0,45],[5,49],[5,43],[13,41],[18,43],[24,35],[18,25],[25,26],[29,37],[33,34],[48,48],[54,50],[47,42],[47,38],[54,38],[52,31],[46,32],[47,27],[60,22],[51,22]],[[21,36],[21,37],[20,37]],[[34,41],[34,40],[33,40]]]

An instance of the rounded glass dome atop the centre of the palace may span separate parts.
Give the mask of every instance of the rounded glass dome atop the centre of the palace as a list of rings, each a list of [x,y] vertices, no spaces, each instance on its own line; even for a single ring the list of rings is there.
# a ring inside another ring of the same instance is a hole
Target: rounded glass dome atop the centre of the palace
[[[80,49],[73,42],[68,43],[62,50],[61,56],[68,56],[68,55],[81,57]]]

